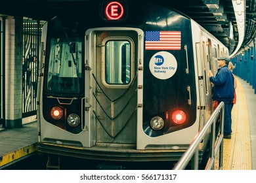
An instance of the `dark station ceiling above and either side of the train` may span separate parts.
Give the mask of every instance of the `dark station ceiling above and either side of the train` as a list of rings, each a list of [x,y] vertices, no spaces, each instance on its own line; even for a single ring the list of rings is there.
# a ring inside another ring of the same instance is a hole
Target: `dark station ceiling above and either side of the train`
[[[50,20],[56,12],[65,10],[70,3],[87,0],[1,0],[0,16],[21,16],[33,20]],[[96,0],[95,0],[96,1]],[[132,0],[127,0],[129,1]],[[139,0],[137,0],[139,1]],[[238,28],[232,0],[148,0],[162,1],[190,16],[225,44],[230,54],[238,45]],[[234,1],[234,0],[233,0]],[[245,2],[245,36],[241,48],[256,36],[256,0]],[[230,24],[234,25],[234,39],[230,39]]]

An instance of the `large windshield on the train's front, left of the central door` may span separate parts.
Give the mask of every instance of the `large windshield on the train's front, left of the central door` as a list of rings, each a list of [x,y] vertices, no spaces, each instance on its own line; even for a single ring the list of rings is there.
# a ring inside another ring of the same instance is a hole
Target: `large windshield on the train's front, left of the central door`
[[[47,90],[75,92],[82,90],[82,42],[81,38],[57,37],[51,39]]]

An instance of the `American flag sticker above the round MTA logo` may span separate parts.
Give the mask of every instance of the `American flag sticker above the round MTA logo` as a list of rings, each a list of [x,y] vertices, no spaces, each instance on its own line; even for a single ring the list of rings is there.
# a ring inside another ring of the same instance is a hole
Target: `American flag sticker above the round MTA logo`
[[[181,31],[146,31],[146,50],[181,50]]]

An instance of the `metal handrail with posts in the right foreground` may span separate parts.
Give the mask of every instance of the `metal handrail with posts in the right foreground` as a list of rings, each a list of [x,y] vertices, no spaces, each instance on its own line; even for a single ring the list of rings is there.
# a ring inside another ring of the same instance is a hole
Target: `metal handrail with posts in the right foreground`
[[[220,118],[219,118],[220,117]],[[220,120],[220,134],[219,138],[215,140],[215,125],[217,122],[217,118]],[[198,169],[198,152],[199,145],[202,142],[205,135],[208,134],[210,130],[210,158],[207,161],[207,165],[205,169],[214,169],[214,161],[215,156],[219,150],[219,169],[223,167],[223,129],[224,129],[224,103],[219,103],[218,107],[214,110],[213,114],[211,114],[209,120],[207,120],[206,124],[203,126],[202,130],[198,132],[186,152],[182,155],[181,159],[177,162],[173,170],[184,170],[190,160],[192,160],[192,169]]]

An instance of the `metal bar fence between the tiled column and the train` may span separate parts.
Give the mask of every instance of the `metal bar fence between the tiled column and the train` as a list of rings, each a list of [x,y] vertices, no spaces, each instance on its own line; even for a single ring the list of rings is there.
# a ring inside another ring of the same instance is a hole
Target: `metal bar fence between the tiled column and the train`
[[[39,73],[40,21],[24,20],[22,60],[22,117],[36,114],[37,76]]]

